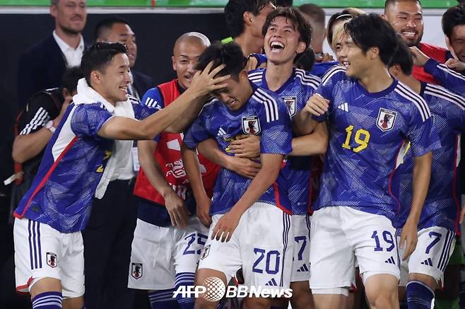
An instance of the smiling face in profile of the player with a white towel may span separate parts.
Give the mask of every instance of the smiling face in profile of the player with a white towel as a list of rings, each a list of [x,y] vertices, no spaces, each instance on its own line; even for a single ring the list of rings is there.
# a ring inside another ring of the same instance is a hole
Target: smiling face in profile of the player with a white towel
[[[129,59],[126,54],[115,54],[110,64],[104,69],[93,71],[91,76],[95,78],[95,90],[113,105],[127,100],[127,88],[129,78]]]

